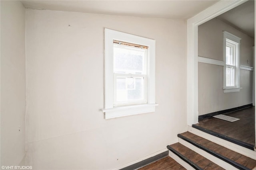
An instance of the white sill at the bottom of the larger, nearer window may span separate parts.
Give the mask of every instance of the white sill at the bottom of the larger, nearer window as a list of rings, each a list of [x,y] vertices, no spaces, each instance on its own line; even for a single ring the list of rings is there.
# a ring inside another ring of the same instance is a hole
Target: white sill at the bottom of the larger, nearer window
[[[112,119],[128,115],[154,112],[155,106],[158,106],[158,104],[141,104],[133,106],[113,107],[110,109],[102,109],[102,112],[105,113],[105,119]]]

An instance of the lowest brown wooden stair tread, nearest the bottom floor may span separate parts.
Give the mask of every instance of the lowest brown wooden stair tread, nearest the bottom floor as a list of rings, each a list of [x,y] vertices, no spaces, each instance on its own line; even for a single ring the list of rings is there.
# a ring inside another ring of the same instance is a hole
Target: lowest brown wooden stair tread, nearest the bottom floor
[[[194,152],[193,150],[185,147],[180,143],[174,143],[172,145],[169,145],[169,147],[171,149],[174,149],[176,152],[179,152],[179,154],[181,154],[184,159],[198,166],[198,169],[201,168],[203,170],[224,170],[224,168],[218,166],[214,162],[206,159],[204,156],[201,156],[200,154]]]

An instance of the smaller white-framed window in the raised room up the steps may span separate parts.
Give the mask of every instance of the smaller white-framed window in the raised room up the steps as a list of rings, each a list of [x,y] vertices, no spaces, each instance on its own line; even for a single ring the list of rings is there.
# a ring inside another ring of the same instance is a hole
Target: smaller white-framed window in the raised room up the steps
[[[224,84],[226,92],[240,91],[240,38],[223,32]]]

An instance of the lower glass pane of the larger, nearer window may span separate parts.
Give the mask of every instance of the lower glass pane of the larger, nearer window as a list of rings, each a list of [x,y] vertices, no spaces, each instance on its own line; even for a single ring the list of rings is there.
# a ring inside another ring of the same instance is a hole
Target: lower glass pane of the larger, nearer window
[[[117,102],[136,102],[144,100],[144,79],[136,78],[117,78],[117,84],[122,80],[122,88],[116,88]],[[123,80],[125,80],[125,88],[123,88]]]

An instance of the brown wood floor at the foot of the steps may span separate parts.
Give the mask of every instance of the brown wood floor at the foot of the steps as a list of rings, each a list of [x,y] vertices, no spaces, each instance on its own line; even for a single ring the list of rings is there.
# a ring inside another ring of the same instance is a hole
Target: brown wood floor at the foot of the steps
[[[186,170],[170,156],[166,156],[156,162],[148,164],[139,170]]]

